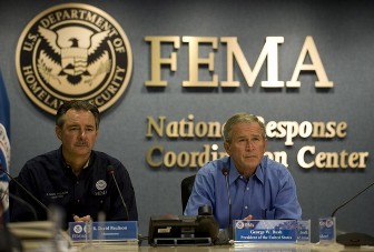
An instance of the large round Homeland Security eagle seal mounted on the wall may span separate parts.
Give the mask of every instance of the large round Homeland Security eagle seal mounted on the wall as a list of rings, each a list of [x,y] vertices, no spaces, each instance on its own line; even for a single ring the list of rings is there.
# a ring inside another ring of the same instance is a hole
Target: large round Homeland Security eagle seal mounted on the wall
[[[40,109],[55,114],[67,100],[88,100],[100,112],[125,92],[132,52],[121,27],[83,3],[55,6],[39,13],[17,46],[20,84]]]

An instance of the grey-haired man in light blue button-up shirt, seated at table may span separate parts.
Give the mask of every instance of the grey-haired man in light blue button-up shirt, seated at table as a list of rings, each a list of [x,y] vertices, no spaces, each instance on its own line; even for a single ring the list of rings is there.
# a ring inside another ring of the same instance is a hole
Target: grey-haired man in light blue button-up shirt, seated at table
[[[266,130],[257,117],[238,113],[228,119],[224,147],[228,157],[198,171],[186,215],[197,215],[200,205],[210,205],[222,229],[233,220],[302,218],[289,171],[264,155]]]

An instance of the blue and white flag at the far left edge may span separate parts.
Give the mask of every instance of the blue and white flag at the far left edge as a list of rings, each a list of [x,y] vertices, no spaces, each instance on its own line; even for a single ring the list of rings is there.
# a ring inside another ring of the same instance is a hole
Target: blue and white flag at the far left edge
[[[10,163],[10,104],[0,71],[0,170],[9,172]],[[9,178],[0,171],[0,223],[9,221]]]

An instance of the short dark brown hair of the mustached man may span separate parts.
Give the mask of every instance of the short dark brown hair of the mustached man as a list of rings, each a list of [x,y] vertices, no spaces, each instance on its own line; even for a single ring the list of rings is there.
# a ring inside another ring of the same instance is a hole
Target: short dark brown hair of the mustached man
[[[65,123],[63,115],[69,110],[90,111],[95,117],[96,129],[99,129],[100,112],[99,112],[98,108],[96,105],[91,104],[89,101],[83,101],[83,100],[71,100],[71,101],[63,102],[63,104],[60,105],[60,108],[57,110],[56,125],[58,125],[58,127],[63,125],[63,123]]]

